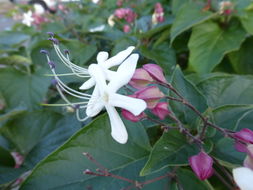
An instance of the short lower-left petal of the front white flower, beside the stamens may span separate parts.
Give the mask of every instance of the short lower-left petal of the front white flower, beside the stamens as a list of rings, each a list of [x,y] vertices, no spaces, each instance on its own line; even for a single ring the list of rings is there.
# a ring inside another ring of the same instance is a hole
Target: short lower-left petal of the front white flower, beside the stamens
[[[86,115],[88,117],[94,117],[103,109],[104,104],[103,101],[100,98],[98,87],[95,86],[91,99],[88,102],[87,109],[86,109]]]

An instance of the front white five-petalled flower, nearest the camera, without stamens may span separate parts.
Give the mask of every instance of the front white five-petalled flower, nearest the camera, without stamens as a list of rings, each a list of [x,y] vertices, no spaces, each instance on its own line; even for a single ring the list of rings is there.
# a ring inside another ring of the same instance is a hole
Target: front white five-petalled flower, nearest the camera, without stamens
[[[106,84],[103,70],[99,65],[89,66],[89,73],[96,82],[91,99],[88,103],[86,114],[89,117],[97,115],[104,107],[111,123],[111,135],[119,143],[127,142],[128,134],[115,107],[128,110],[134,115],[143,112],[147,105],[145,101],[117,94],[117,90],[127,84],[132,78],[138,60],[137,54],[132,54],[118,68],[114,78]]]

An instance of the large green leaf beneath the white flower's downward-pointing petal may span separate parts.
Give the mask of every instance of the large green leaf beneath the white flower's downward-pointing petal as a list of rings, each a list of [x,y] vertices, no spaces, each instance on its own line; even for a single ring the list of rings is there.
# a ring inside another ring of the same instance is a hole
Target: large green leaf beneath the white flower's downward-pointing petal
[[[112,139],[107,115],[99,116],[40,162],[21,189],[78,190],[87,186],[93,189],[121,189],[130,185],[110,177],[84,175],[84,170],[95,171],[97,166],[83,152],[91,154],[110,172],[139,180],[139,167],[143,166],[150,145],[143,126],[130,122],[125,124],[128,126],[129,140],[122,145]]]

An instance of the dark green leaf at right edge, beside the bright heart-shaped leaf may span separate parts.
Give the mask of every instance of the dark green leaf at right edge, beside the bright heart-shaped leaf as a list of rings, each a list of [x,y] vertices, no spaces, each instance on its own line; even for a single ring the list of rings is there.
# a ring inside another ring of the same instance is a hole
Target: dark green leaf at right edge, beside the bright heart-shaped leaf
[[[229,54],[229,60],[232,63],[233,69],[239,74],[253,74],[252,44],[253,38],[248,38],[243,42],[242,47],[238,51]]]

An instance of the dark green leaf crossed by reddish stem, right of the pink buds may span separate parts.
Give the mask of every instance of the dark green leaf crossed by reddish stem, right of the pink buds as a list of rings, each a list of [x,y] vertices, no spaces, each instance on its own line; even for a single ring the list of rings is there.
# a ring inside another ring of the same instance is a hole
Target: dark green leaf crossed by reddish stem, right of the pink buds
[[[172,76],[172,86],[177,89],[179,94],[190,102],[199,112],[203,113],[207,109],[207,103],[204,96],[190,81],[184,78],[179,67],[177,67]],[[177,97],[170,91],[170,96]],[[177,97],[178,98],[178,97]],[[172,110],[188,124],[197,119],[196,113],[184,106],[181,102],[170,101]]]

